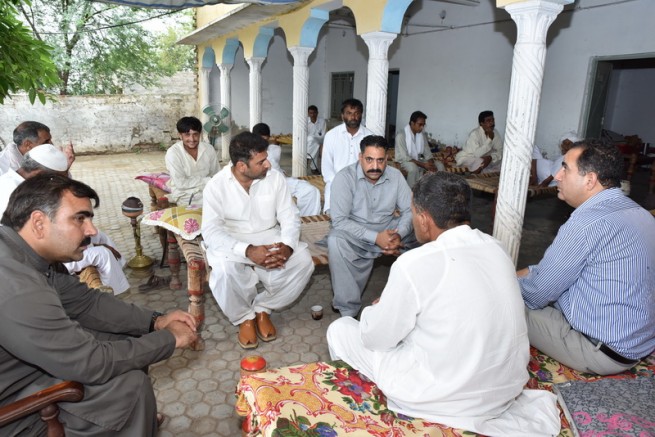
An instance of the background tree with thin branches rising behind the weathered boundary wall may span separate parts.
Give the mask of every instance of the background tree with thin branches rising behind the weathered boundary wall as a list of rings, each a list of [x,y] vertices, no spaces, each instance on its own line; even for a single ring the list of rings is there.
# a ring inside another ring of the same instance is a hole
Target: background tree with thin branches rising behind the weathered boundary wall
[[[171,12],[88,0],[33,0],[21,10],[35,37],[54,48],[59,94],[119,94],[127,85],[149,86],[175,72],[161,68],[161,44],[143,26]],[[189,14],[179,16],[184,22]]]

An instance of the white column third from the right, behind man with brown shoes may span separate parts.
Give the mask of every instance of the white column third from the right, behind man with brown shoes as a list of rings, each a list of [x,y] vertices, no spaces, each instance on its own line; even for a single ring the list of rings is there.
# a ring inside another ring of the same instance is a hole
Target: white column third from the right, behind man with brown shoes
[[[307,173],[307,105],[309,103],[309,67],[307,59],[312,47],[289,47],[293,56],[293,177]]]

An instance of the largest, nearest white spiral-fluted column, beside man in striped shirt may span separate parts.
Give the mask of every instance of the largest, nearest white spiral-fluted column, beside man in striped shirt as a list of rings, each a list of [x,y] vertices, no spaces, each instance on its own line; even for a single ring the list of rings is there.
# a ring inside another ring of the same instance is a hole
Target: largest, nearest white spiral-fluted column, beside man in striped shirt
[[[523,230],[532,145],[546,61],[546,34],[563,5],[571,1],[529,0],[505,6],[516,22],[518,37],[514,46],[493,234],[505,245],[514,264],[518,260]]]

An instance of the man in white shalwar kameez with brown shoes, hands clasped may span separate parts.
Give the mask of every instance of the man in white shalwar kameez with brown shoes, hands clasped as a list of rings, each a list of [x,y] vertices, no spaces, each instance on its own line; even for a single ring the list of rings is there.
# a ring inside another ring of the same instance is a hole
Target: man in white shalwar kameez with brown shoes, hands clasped
[[[300,214],[285,177],[271,168],[268,143],[242,132],[230,141],[230,162],[203,193],[202,236],[212,268],[209,286],[244,349],[277,338],[269,318],[291,304],[314,271],[300,238]],[[264,291],[257,293],[261,282]]]

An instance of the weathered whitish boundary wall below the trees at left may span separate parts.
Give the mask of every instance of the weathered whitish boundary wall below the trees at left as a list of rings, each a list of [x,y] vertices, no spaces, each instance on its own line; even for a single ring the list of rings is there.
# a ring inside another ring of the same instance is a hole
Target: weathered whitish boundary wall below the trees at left
[[[190,82],[175,89],[186,89],[184,94],[154,89],[145,91],[151,94],[57,96],[57,101],[45,105],[38,101],[31,105],[25,95],[12,96],[0,106],[0,145],[11,143],[20,122],[35,120],[50,127],[56,145],[72,141],[78,154],[169,146],[177,140],[177,120],[199,115],[195,80],[189,77]]]

